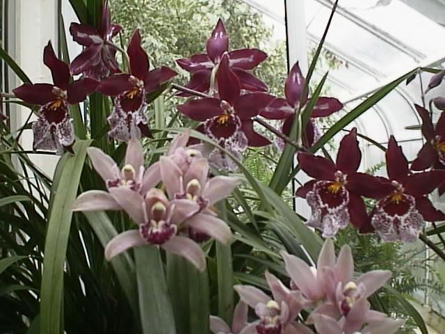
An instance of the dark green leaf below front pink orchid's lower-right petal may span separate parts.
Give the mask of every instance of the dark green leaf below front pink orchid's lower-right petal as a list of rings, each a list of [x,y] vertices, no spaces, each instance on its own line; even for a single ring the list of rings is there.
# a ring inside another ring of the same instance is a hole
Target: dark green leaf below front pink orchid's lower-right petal
[[[209,333],[209,277],[193,264],[167,253],[167,282],[178,334]]]

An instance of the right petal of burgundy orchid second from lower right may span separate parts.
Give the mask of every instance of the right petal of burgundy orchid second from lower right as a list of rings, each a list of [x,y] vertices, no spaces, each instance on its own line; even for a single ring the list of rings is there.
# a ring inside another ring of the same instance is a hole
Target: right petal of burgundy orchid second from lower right
[[[388,196],[395,190],[389,180],[364,173],[349,174],[346,182],[346,188],[350,193],[377,200]]]

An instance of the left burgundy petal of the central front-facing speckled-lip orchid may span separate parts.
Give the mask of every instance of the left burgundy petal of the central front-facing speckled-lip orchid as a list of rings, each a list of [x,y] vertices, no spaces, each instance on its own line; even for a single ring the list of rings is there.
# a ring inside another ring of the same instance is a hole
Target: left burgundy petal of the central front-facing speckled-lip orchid
[[[224,113],[220,106],[220,100],[213,99],[213,97],[190,100],[177,108],[180,113],[201,122]]]

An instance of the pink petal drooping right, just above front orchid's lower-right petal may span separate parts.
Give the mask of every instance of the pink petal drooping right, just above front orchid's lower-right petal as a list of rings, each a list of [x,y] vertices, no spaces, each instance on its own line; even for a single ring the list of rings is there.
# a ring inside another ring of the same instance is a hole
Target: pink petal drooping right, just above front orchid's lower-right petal
[[[188,218],[186,223],[194,230],[205,233],[213,239],[220,241],[222,244],[229,244],[232,239],[232,232],[227,223],[215,216],[195,214],[191,218]]]

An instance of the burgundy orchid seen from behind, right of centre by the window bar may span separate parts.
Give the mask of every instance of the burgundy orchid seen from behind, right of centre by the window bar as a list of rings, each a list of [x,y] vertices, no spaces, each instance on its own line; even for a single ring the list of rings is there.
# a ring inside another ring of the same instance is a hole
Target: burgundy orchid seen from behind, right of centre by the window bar
[[[271,104],[269,104],[263,111],[261,111],[261,116],[274,120],[283,120],[282,133],[289,136],[291,133],[291,128],[293,120],[295,119],[296,111],[300,104],[305,106],[309,100],[309,92],[305,91],[302,96],[302,91],[305,87],[305,77],[300,70],[298,62],[293,65],[289,76],[286,79],[284,85],[284,95],[286,99],[277,98]],[[300,101],[301,99],[301,101]],[[343,104],[334,97],[318,97],[318,100],[312,110],[311,118],[326,117],[330,116],[343,108]],[[305,129],[305,138],[303,143],[305,147],[309,148],[314,143],[315,129],[312,120],[307,122]]]

